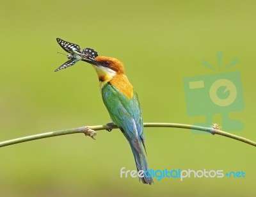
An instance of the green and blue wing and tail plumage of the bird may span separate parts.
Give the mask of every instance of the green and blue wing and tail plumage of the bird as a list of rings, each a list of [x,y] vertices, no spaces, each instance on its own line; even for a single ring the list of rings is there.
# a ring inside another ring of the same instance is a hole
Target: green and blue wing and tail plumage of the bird
[[[102,99],[113,123],[119,127],[131,145],[137,170],[146,171],[148,169],[147,160],[142,148],[145,137],[138,95],[134,91],[133,97],[129,99],[115,86],[106,83],[102,88]],[[143,177],[141,180],[145,184],[153,182],[151,177]]]

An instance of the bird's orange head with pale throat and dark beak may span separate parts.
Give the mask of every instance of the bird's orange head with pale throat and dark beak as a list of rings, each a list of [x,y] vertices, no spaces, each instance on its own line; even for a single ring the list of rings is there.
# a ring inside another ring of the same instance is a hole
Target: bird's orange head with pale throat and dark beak
[[[124,64],[116,58],[109,58],[105,56],[97,56],[96,58],[83,59],[93,65],[95,68],[99,81],[108,82],[115,77],[115,75],[125,74]]]

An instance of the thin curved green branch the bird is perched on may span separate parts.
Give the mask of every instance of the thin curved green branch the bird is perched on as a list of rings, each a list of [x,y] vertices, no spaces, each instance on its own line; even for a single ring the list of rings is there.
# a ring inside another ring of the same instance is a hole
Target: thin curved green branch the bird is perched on
[[[242,141],[243,143],[247,143],[248,145],[256,146],[256,142],[251,141],[250,139],[242,138],[240,136],[236,136],[234,134],[230,134],[228,132],[218,130],[218,127],[199,127],[195,125],[184,125],[184,124],[178,124],[178,123],[144,123],[144,127],[175,127],[180,129],[194,129],[194,130],[202,130],[204,132],[209,132],[211,134],[217,134],[220,136],[225,136],[227,138],[236,139],[238,141]],[[111,129],[117,129],[118,127],[113,126]],[[17,143],[23,143],[26,141],[32,141],[36,139],[43,139],[43,138],[51,138],[54,136],[63,136],[67,134],[77,134],[77,133],[83,133],[86,136],[90,136],[94,139],[94,136],[96,136],[95,130],[106,130],[110,129],[108,125],[97,125],[97,126],[86,126],[86,127],[79,127],[75,129],[65,129],[65,130],[57,130],[52,132],[45,132],[42,134],[35,134],[32,136],[26,136],[23,138],[16,138],[16,139],[10,139],[7,141],[0,142],[0,147],[3,146],[9,146],[9,145],[15,145]]]

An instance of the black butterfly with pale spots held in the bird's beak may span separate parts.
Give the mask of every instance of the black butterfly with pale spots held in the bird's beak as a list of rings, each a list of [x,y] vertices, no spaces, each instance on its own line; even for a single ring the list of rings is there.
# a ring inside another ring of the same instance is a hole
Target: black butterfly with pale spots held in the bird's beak
[[[63,63],[63,65],[58,67],[56,70],[54,70],[55,72],[63,68],[71,67],[77,61],[83,60],[83,58],[85,59],[96,58],[98,56],[97,51],[94,51],[91,48],[86,48],[86,49],[83,49],[83,51],[81,51],[79,45],[77,45],[76,43],[67,42],[60,38],[56,38],[56,40],[58,44],[61,46],[61,48],[69,53],[67,56],[69,60]]]

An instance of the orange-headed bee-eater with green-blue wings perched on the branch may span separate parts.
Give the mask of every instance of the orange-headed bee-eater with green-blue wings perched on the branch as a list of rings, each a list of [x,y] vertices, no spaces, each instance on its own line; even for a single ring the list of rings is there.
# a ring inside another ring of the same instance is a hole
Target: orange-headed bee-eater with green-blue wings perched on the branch
[[[82,61],[90,63],[99,77],[102,100],[113,121],[107,124],[108,130],[111,131],[113,125],[116,125],[122,131],[131,146],[137,171],[147,171],[148,164],[145,157],[147,152],[140,102],[136,91],[125,75],[124,63],[119,59],[106,56],[92,58],[90,53]],[[138,177],[143,184],[154,183],[148,173],[147,176]]]

